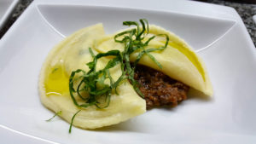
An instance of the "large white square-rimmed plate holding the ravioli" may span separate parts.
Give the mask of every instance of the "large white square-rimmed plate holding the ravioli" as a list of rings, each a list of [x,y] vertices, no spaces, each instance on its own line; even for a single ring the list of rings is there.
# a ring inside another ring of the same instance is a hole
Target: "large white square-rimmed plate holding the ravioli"
[[[72,134],[61,118],[45,122],[53,112],[39,101],[38,74],[49,50],[79,28],[102,22],[109,33],[139,18],[197,50],[212,79],[212,100],[191,97],[172,109],[153,109],[101,130],[73,128]],[[234,9],[175,0],[38,0],[0,43],[1,131],[24,135],[28,143],[255,143],[255,73],[256,51]],[[3,136],[4,143],[13,141]]]

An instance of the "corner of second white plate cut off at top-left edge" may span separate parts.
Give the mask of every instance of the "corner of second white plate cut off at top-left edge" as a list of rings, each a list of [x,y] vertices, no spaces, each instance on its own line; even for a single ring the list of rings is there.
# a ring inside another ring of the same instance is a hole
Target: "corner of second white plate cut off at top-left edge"
[[[0,29],[3,27],[4,22],[15,9],[18,2],[19,0],[0,0]]]

